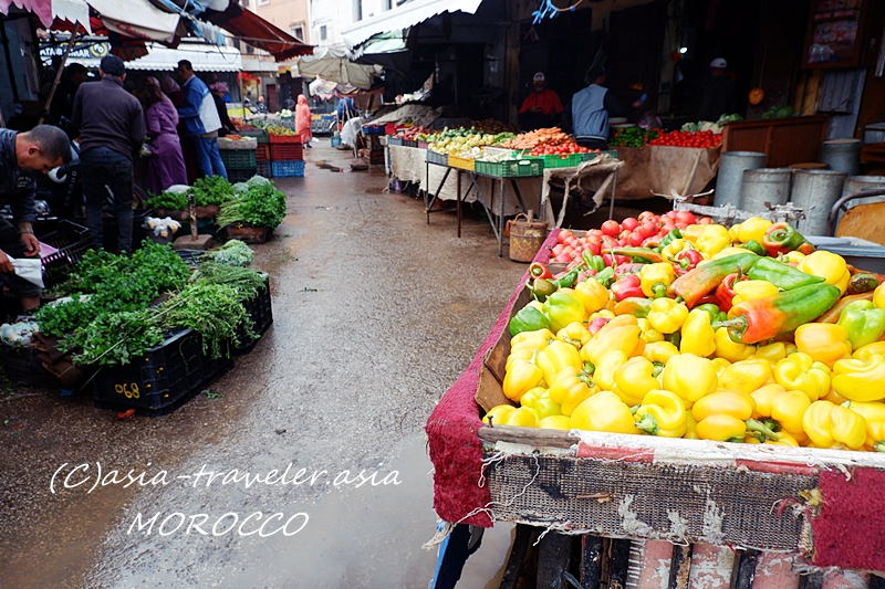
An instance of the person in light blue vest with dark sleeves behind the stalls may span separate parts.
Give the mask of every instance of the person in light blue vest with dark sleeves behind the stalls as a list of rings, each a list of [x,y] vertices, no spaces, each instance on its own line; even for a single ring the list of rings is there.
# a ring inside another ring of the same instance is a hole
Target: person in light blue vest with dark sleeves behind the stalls
[[[608,147],[608,117],[624,116],[642,107],[636,101],[629,106],[621,104],[605,87],[605,67],[596,65],[587,72],[590,85],[575,93],[565,105],[562,127],[574,135],[575,141],[590,149]]]

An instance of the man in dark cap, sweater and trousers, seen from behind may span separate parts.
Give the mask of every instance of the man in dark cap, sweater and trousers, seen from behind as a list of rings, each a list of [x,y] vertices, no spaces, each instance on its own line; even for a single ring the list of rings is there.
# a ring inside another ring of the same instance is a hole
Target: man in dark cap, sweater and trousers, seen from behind
[[[77,90],[72,119],[73,128],[80,132],[86,223],[93,245],[102,248],[105,187],[110,187],[119,222],[117,250],[132,253],[132,162],[145,140],[145,114],[142,103],[123,86],[123,60],[116,55],[102,57],[98,74],[101,82]]]

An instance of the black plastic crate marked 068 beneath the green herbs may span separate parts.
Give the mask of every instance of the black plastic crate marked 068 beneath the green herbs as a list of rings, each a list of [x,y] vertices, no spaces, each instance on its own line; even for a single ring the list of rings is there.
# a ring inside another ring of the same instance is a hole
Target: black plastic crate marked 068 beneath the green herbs
[[[93,401],[100,409],[135,409],[139,416],[166,416],[231,366],[233,360],[229,357],[212,359],[205,355],[197,332],[178,330],[127,365],[101,368],[93,378]]]

